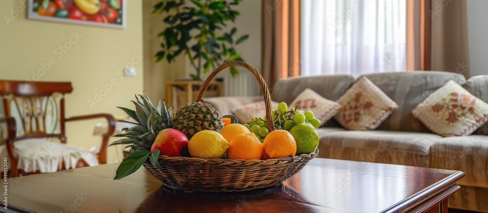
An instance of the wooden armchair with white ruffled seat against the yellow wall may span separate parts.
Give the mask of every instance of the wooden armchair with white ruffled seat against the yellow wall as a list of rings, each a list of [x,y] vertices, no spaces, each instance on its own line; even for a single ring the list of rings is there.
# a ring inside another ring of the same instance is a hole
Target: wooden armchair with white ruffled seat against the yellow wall
[[[64,157],[62,158],[62,161],[59,162],[58,170],[69,169],[66,168],[66,161],[70,161],[72,158],[66,158],[66,153],[63,150],[80,148],[66,144],[65,123],[68,121],[92,118],[107,119],[108,131],[102,135],[102,145],[100,150],[95,156],[90,155],[92,157],[91,159],[95,159],[96,157],[95,161],[98,160],[99,164],[106,163],[108,140],[115,130],[114,117],[110,114],[93,114],[65,118],[64,95],[69,94],[72,91],[73,88],[71,82],[0,80],[0,96],[2,97],[4,115],[7,117],[15,117],[18,126],[17,136],[8,139],[5,144],[9,156],[9,166],[12,176],[18,176],[19,172],[21,172],[19,171],[21,169],[19,167],[19,160],[27,162],[25,159],[29,160],[28,157],[31,156],[41,156],[44,157],[42,159],[46,159],[49,157],[56,157],[57,155],[61,155],[60,153],[63,153]],[[9,118],[5,119],[8,120]],[[47,138],[57,138],[61,143],[49,142],[46,140]],[[40,146],[36,153],[30,153],[28,156],[21,155],[22,153],[20,152],[22,152],[22,150],[19,150],[19,147],[23,147],[23,149],[32,149],[33,144],[35,144],[34,146],[37,146],[38,144]],[[51,150],[49,150],[50,148]],[[81,153],[83,153],[83,156],[88,156],[88,154],[84,155],[86,154],[85,151],[81,151]],[[80,152],[70,154],[73,157],[77,157]],[[59,160],[61,158],[56,159]],[[88,165],[88,163],[85,162],[86,160],[83,160],[82,158],[78,159],[79,162],[76,162],[76,167]],[[73,165],[73,162],[70,163]],[[52,167],[54,166],[56,165],[52,165]],[[70,166],[68,165],[68,167]],[[42,171],[30,171],[28,174],[39,172]]]

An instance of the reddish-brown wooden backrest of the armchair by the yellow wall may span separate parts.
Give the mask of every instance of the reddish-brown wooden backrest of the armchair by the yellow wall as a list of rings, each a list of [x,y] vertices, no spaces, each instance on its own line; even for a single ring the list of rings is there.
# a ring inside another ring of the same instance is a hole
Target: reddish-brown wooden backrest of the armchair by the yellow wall
[[[66,141],[64,95],[71,82],[0,80],[4,116],[17,120],[18,137],[58,137]]]

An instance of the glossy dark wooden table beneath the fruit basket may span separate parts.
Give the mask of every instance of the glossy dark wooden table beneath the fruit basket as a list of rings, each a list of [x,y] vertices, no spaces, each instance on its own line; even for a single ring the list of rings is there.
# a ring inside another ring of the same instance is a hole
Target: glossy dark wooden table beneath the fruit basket
[[[112,180],[116,169],[117,164],[108,164],[10,178],[8,211],[438,213],[447,211],[447,197],[459,190],[455,182],[464,176],[450,170],[315,158],[276,187],[183,193],[166,189],[144,168]]]

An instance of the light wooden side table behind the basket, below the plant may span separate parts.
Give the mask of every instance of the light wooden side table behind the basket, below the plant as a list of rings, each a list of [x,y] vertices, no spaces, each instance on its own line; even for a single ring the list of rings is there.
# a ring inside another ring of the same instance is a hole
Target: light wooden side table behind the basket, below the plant
[[[203,81],[190,81],[190,80],[185,80],[185,81],[165,81],[164,84],[166,85],[166,98],[167,98],[167,101],[168,101],[168,105],[171,105],[172,104],[172,101],[174,100],[174,98],[172,97],[172,92],[171,92],[171,88],[173,86],[180,86],[180,87],[183,87],[185,90],[186,90],[186,102],[187,103],[192,103],[193,101],[193,88],[196,86],[198,87],[199,89],[198,90],[195,90],[196,92],[198,92],[200,90],[200,88],[202,88],[202,85],[203,85]],[[218,81],[212,81],[210,82],[209,84],[209,89],[213,89],[217,92],[217,96],[221,96],[221,85],[222,83],[221,82],[218,82]]]

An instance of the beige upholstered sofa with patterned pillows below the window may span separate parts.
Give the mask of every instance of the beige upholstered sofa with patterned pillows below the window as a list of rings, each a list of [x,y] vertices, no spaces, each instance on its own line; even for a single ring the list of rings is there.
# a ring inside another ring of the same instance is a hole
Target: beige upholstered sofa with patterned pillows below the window
[[[488,124],[470,136],[442,137],[430,132],[411,110],[452,79],[488,102],[488,75],[471,77],[448,72],[397,72],[365,75],[400,107],[376,130],[347,131],[331,119],[318,129],[319,157],[401,164],[463,171],[462,189],[449,198],[449,207],[488,212]],[[291,103],[310,88],[337,100],[355,82],[347,75],[294,77],[270,88],[272,100]],[[215,97],[204,101],[223,115],[259,97]]]

